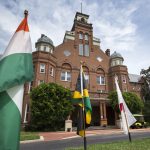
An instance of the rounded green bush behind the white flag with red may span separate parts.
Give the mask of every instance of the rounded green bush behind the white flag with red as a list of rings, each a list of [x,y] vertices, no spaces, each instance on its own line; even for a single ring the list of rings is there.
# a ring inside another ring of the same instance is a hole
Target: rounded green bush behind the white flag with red
[[[131,92],[123,92],[122,96],[129,108],[129,110],[133,114],[141,112],[141,110],[143,109],[143,106],[144,106],[143,101],[136,94],[131,93]],[[112,108],[117,113],[120,113],[117,92],[116,91],[110,92],[108,98],[109,98],[109,103],[112,106]]]

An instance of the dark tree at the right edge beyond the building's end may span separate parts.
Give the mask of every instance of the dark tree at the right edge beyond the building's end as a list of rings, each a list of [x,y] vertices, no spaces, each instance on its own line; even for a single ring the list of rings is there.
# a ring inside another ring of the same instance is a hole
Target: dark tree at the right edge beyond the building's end
[[[150,121],[150,67],[148,69],[141,70],[143,85],[142,85],[142,95],[144,99],[144,115],[145,120]]]

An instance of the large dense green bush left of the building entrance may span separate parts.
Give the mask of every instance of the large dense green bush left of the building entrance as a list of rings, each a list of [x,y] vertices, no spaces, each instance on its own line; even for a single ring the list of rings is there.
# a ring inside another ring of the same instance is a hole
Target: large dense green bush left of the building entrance
[[[64,127],[72,110],[71,91],[55,83],[41,84],[31,92],[32,130],[54,131]]]

